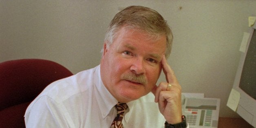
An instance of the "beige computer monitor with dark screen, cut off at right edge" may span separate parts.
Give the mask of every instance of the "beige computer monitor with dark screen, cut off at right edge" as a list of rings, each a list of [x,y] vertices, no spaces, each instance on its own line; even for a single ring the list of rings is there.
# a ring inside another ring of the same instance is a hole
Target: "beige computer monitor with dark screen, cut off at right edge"
[[[241,94],[236,113],[256,128],[256,24],[250,27],[245,53],[242,53],[233,89]]]

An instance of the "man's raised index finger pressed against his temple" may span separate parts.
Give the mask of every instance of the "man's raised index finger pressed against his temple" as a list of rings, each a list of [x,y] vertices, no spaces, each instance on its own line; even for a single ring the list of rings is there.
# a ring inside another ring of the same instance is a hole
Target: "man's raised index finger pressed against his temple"
[[[176,76],[174,75],[174,71],[172,70],[170,65],[167,63],[165,55],[163,55],[163,59],[161,60],[161,63],[163,66],[163,73],[166,76],[166,81],[170,84],[174,84],[174,83],[178,84],[178,80],[177,80]]]

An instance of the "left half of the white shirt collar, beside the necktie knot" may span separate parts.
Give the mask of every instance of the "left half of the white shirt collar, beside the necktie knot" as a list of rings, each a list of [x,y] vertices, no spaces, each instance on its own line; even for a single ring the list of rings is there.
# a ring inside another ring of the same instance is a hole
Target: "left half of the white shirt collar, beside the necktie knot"
[[[97,103],[99,104],[99,110],[102,114],[102,118],[106,118],[106,116],[110,113],[110,110],[117,104],[117,100],[115,97],[111,95],[108,89],[104,86],[101,76],[100,76],[100,65],[97,66],[94,72],[94,92],[95,97],[97,99]]]

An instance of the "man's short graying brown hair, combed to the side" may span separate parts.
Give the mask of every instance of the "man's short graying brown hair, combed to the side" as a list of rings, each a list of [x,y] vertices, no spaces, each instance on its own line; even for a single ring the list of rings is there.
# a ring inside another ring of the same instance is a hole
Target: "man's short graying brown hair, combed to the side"
[[[166,35],[166,58],[170,56],[172,49],[172,31],[168,26],[166,20],[153,9],[142,6],[130,6],[120,11],[111,20],[104,42],[109,47],[115,35],[122,28],[138,29],[148,33],[154,38],[158,38],[161,35]]]

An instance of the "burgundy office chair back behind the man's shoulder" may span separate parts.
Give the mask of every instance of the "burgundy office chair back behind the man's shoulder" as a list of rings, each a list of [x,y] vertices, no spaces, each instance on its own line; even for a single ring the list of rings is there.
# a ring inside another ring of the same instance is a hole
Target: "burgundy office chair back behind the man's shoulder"
[[[52,82],[73,75],[49,60],[22,59],[0,63],[0,128],[25,128],[26,108]]]

